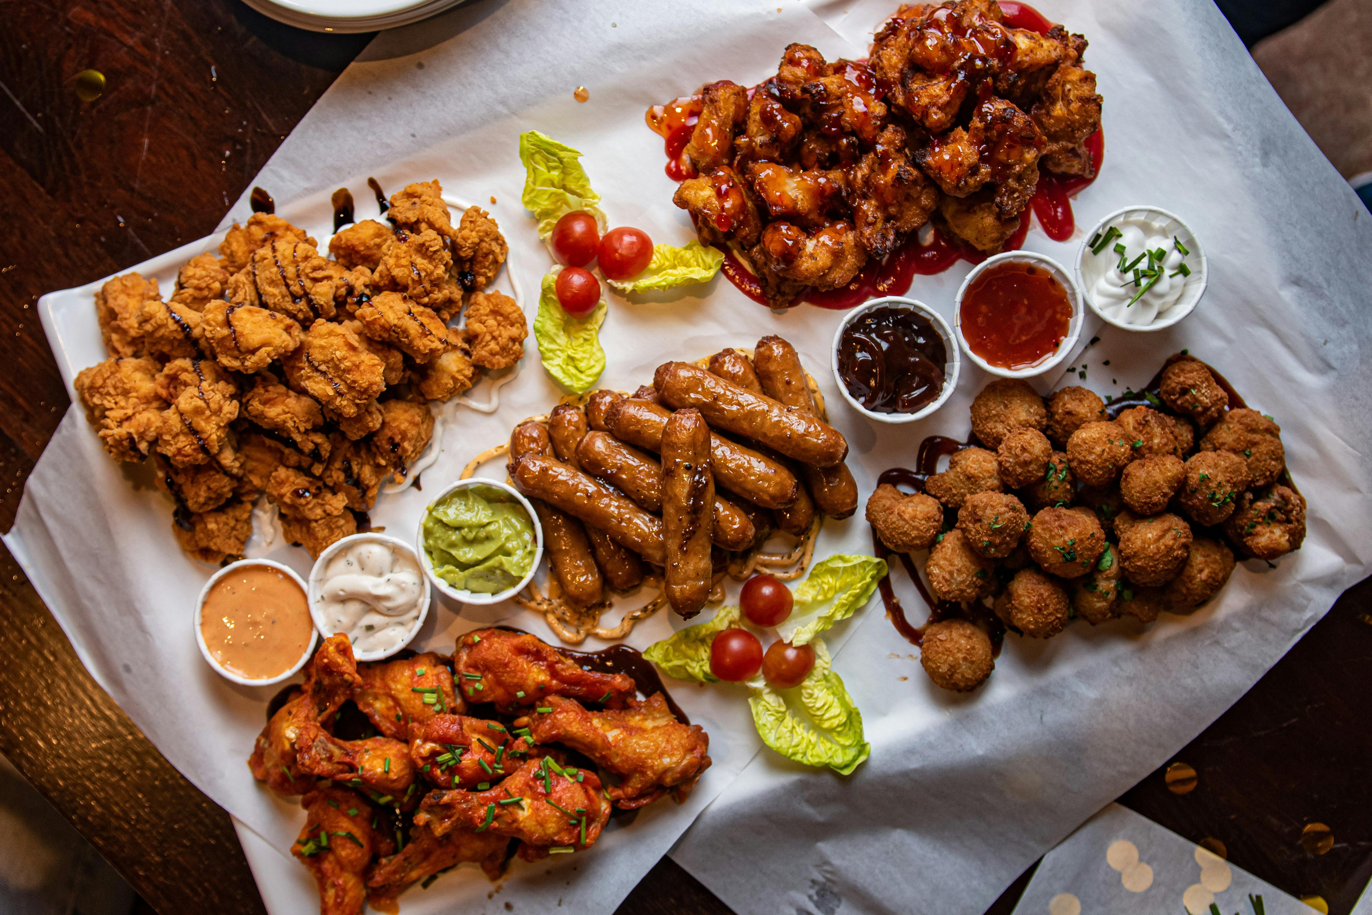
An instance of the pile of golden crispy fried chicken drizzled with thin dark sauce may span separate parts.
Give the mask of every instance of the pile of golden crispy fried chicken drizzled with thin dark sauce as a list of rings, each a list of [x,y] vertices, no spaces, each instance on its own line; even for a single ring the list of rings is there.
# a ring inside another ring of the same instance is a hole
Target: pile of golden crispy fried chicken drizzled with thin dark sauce
[[[392,195],[390,225],[343,229],[333,259],[255,213],[218,257],[181,268],[170,299],[137,273],[96,294],[110,358],[77,392],[111,457],[156,458],[191,556],[241,554],[265,491],[285,539],[317,557],[428,447],[429,401],[520,359],[523,311],[483,291],[505,239],[475,206],[454,226],[442,193],[429,181]]]

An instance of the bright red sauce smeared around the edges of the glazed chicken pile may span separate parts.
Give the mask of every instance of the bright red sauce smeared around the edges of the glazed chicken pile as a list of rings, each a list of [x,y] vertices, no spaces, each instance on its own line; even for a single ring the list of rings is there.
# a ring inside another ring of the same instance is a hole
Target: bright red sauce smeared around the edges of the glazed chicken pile
[[[1028,3],[1000,0],[1000,11],[1004,25],[1011,29],[1028,29],[1039,34],[1044,34],[1052,29],[1052,23]],[[849,67],[849,70],[853,70],[853,67]],[[848,75],[853,80],[852,74]],[[748,91],[749,97],[752,97],[755,89],[756,86]],[[686,144],[690,143],[690,134],[694,130],[696,122],[700,119],[702,104],[702,96],[696,93],[674,99],[667,104],[654,104],[645,115],[648,126],[665,140],[667,174],[674,181],[685,181],[686,178],[696,177],[696,169],[686,159],[685,150]],[[1029,206],[1019,215],[1019,228],[1006,240],[1000,248],[1002,251],[1018,251],[1024,246],[1025,236],[1029,233],[1030,210],[1050,239],[1066,241],[1072,237],[1076,229],[1072,198],[1095,181],[1096,176],[1100,174],[1100,163],[1104,159],[1104,133],[1100,128],[1087,137],[1085,145],[1091,154],[1091,177],[1041,171],[1039,187],[1029,200]],[[923,244],[919,243],[918,236],[919,233],[911,233],[910,239],[885,259],[868,261],[848,285],[826,291],[809,289],[803,292],[799,300],[808,302],[820,309],[852,309],[875,296],[904,295],[910,291],[910,285],[914,283],[916,274],[933,276],[943,273],[958,261],[975,265],[991,257],[956,239],[948,237],[938,226],[933,228],[933,233]],[[740,292],[753,302],[767,305],[767,298],[763,295],[757,277],[733,252],[724,252],[724,263],[720,270],[729,277],[730,283],[738,287]]]

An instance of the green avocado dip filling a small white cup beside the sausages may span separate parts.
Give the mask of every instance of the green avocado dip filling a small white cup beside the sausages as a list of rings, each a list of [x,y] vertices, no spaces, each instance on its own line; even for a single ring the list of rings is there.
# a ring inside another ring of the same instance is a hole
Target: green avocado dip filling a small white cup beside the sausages
[[[454,490],[424,512],[424,551],[454,589],[497,594],[534,568],[534,524],[494,486]]]

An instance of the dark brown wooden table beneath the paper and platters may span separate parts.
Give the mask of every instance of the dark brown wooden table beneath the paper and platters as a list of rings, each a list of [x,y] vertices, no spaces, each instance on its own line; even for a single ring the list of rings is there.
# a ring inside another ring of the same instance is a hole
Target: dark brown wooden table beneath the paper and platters
[[[67,409],[38,296],[214,229],[277,144],[369,36],[316,36],[235,0],[4,0],[0,38],[0,525]],[[103,95],[82,102],[75,74]],[[187,782],[77,660],[0,549],[0,752],[159,912],[263,911],[229,818]],[[1372,877],[1372,580],[1343,599],[1177,760],[1124,798],[1294,894],[1347,912]],[[1184,702],[1185,697],[1176,697]],[[1360,712],[1364,712],[1360,717]],[[1302,851],[1309,822],[1334,849]],[[1028,874],[992,911],[1014,907]],[[620,912],[727,914],[664,859]]]

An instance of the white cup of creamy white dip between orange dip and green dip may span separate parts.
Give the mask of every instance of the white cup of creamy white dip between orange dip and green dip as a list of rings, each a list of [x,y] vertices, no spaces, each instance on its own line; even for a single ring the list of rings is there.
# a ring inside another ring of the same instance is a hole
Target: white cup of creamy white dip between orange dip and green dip
[[[310,609],[325,635],[347,634],[362,660],[403,647],[428,609],[428,583],[405,543],[376,534],[339,540],[310,573]]]

